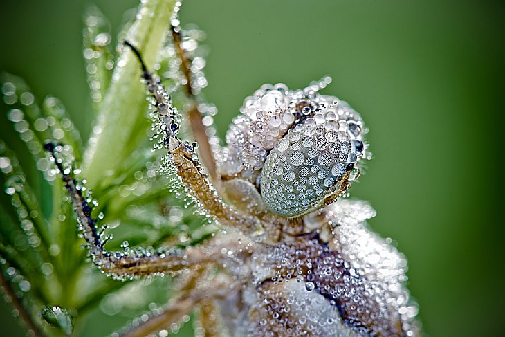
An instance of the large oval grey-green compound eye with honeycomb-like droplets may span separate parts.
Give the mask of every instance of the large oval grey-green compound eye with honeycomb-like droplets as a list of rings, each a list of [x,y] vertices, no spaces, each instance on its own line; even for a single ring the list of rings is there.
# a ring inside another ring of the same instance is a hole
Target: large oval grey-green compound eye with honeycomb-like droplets
[[[333,201],[345,190],[364,145],[355,121],[327,120],[323,113],[281,138],[261,171],[261,197],[277,215],[298,217]]]

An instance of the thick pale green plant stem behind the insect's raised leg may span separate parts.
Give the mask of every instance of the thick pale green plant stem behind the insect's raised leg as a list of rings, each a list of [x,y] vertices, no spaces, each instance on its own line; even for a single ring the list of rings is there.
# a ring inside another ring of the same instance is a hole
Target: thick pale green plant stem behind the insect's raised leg
[[[131,26],[127,38],[142,51],[147,64],[154,64],[163,46],[174,10],[173,0],[147,0],[139,10],[138,19]],[[145,113],[145,88],[138,81],[135,55],[123,52],[112,83],[105,95],[98,115],[98,129],[84,155],[83,173],[91,188],[99,190],[100,181],[107,181],[131,154],[129,140],[138,132],[138,120]]]

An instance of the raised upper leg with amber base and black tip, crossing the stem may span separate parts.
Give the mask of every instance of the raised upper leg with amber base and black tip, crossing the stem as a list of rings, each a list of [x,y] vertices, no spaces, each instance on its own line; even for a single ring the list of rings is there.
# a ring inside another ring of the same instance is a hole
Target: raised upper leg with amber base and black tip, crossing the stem
[[[208,179],[208,175],[203,172],[203,167],[196,157],[196,143],[183,142],[178,136],[178,115],[176,107],[172,104],[172,99],[165,90],[159,78],[154,78],[152,73],[147,71],[139,51],[129,42],[125,41],[137,55],[143,69],[143,78],[146,81],[147,89],[153,96],[152,116],[154,120],[153,129],[161,136],[156,148],[165,147],[168,156],[165,158],[167,170],[174,165],[176,174],[181,177],[187,192],[194,197],[201,208],[208,212],[208,215],[219,221],[219,223],[238,228],[244,233],[262,233],[261,224],[255,217],[241,215],[235,208],[232,208],[219,197],[217,190]]]

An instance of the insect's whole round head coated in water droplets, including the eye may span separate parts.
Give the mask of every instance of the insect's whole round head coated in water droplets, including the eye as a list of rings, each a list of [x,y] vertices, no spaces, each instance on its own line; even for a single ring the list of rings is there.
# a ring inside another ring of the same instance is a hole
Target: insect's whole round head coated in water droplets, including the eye
[[[218,156],[224,180],[246,179],[284,217],[318,209],[358,179],[371,154],[362,118],[347,102],[318,93],[330,78],[302,90],[265,84],[244,100]]]

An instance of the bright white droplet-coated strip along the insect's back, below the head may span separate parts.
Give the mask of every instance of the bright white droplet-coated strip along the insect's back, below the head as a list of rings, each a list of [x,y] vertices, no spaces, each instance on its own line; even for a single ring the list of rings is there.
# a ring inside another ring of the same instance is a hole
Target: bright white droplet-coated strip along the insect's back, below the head
[[[405,336],[416,336],[418,306],[405,287],[407,259],[398,253],[392,239],[369,230],[365,220],[375,215],[366,202],[342,200],[325,210],[323,221],[333,228],[333,244],[342,257],[371,284],[369,293],[380,299],[390,315],[400,318]]]

